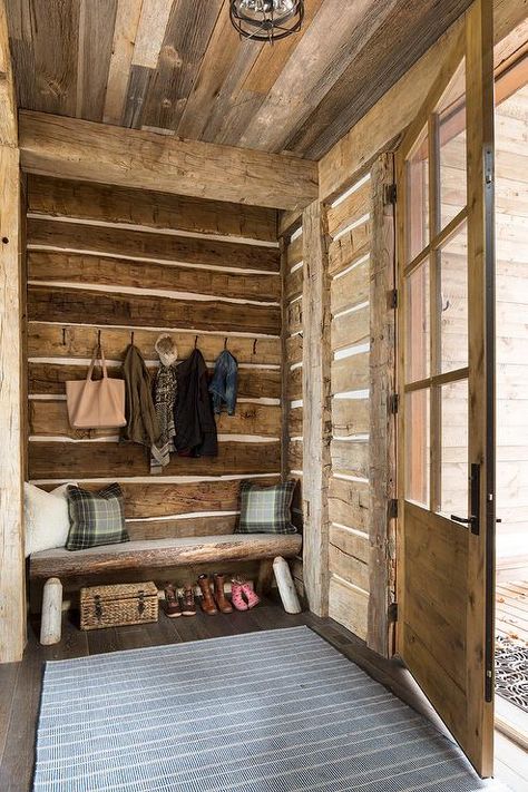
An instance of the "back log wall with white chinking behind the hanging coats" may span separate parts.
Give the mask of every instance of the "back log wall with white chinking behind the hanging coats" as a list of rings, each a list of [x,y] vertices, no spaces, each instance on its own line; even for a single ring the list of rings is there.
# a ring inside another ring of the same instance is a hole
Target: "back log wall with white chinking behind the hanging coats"
[[[276,212],[31,175],[27,277],[30,480],[118,480],[134,539],[232,532],[241,480],[281,473]],[[86,375],[99,331],[110,375],[133,331],[154,372],[164,330],[180,360],[197,336],[209,365],[226,340],[238,403],[218,419],[217,458],[173,456],[150,476],[116,430],[70,428],[65,382]]]

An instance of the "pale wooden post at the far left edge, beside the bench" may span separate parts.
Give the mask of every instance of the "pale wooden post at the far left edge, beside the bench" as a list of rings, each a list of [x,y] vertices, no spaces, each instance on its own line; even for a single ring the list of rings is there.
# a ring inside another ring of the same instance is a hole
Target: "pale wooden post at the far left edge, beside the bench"
[[[26,644],[22,521],[20,168],[4,0],[0,0],[0,663]]]

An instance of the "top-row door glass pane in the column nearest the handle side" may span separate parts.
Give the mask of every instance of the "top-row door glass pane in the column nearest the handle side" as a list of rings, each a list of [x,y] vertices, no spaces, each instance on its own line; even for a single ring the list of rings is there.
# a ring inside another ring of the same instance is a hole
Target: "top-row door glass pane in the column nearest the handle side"
[[[443,95],[437,116],[440,231],[466,206],[466,61]]]

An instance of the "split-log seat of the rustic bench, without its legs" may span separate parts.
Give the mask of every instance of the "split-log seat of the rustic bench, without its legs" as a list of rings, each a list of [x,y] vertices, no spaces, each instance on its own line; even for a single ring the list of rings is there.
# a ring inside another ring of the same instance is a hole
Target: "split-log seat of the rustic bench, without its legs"
[[[30,557],[29,575],[33,579],[47,579],[141,567],[185,567],[193,564],[245,561],[275,556],[291,558],[300,553],[301,545],[302,538],[296,534],[229,534],[127,541],[123,545],[90,547],[76,553],[60,548],[33,553]]]

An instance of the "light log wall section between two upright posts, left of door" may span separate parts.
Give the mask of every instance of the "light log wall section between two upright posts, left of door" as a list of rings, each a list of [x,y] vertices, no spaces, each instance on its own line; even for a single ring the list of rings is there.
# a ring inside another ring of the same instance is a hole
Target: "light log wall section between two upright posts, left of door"
[[[332,473],[330,616],[366,638],[369,608],[370,174],[327,209],[331,276]]]

